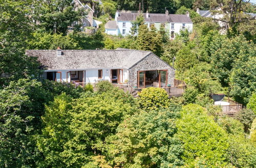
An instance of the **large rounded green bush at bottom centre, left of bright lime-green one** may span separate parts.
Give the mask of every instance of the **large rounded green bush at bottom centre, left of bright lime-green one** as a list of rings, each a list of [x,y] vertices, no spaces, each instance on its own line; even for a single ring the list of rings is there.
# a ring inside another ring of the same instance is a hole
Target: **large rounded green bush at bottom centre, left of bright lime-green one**
[[[169,109],[141,111],[118,126],[109,139],[114,167],[175,167],[182,165],[182,144],[174,137],[179,113]]]

